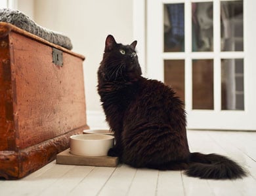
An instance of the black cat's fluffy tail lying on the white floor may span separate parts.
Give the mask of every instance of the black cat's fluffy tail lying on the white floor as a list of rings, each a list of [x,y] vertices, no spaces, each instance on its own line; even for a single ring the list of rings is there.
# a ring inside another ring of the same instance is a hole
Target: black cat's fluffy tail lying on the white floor
[[[188,176],[204,179],[236,179],[246,176],[238,163],[217,154],[190,154],[190,164],[185,173]]]

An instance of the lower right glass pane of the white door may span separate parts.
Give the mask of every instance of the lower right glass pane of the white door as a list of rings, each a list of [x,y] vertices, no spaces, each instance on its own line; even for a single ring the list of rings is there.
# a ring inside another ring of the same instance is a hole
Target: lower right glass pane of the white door
[[[244,60],[221,60],[221,109],[244,110]]]

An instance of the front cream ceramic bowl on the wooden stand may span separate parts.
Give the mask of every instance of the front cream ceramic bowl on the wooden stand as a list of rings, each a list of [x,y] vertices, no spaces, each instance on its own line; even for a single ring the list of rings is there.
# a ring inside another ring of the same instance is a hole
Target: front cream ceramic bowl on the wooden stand
[[[70,137],[70,153],[81,156],[104,156],[114,146],[111,135],[84,134]]]

